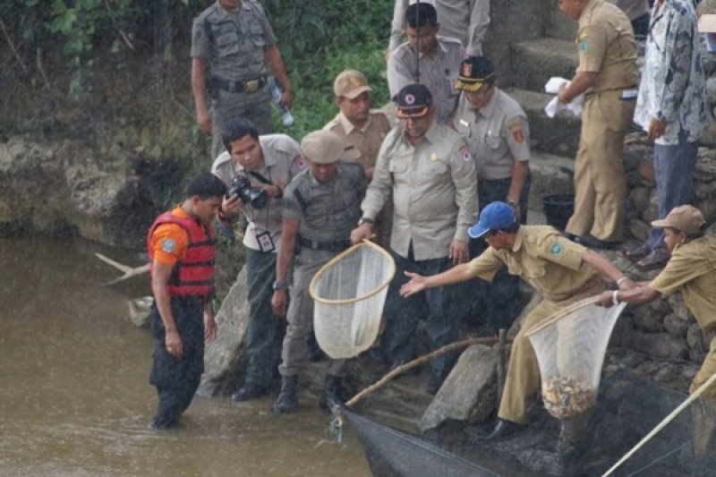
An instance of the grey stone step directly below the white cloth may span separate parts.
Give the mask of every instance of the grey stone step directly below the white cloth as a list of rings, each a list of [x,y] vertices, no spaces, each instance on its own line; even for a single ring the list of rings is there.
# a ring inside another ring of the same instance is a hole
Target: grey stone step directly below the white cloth
[[[530,144],[534,151],[545,151],[560,156],[576,155],[582,120],[571,114],[547,117],[544,106],[552,95],[528,89],[506,88],[508,95],[524,108],[530,122]]]

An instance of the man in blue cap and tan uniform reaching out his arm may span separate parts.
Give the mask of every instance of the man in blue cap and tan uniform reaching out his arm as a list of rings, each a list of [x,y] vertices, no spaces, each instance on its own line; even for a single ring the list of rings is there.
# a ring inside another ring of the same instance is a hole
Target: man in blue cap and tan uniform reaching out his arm
[[[493,440],[526,427],[528,400],[540,389],[540,367],[527,333],[567,305],[601,292],[600,275],[617,282],[621,290],[635,284],[599,253],[568,241],[553,227],[520,226],[515,210],[505,202],[492,202],[482,209],[480,221],[470,228],[470,236],[484,237],[490,247],[480,257],[439,275],[407,273],[410,281],[400,294],[411,296],[473,277],[491,280],[507,266],[510,273],[522,277],[543,297],[524,319],[512,344],[495,430],[488,436],[473,436]]]

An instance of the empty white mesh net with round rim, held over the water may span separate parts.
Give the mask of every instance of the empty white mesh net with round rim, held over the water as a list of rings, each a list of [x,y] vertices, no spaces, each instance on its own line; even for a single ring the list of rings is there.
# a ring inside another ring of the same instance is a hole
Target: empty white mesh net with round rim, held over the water
[[[328,356],[352,358],[371,347],[395,273],[390,254],[370,242],[354,245],[320,268],[309,291],[316,341]]]

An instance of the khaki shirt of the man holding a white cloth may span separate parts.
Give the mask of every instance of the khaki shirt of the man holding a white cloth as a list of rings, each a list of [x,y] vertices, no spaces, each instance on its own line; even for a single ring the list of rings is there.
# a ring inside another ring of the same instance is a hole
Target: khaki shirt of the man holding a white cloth
[[[630,89],[636,85],[634,30],[626,14],[604,0],[590,0],[579,17],[577,72],[597,72],[588,92]]]

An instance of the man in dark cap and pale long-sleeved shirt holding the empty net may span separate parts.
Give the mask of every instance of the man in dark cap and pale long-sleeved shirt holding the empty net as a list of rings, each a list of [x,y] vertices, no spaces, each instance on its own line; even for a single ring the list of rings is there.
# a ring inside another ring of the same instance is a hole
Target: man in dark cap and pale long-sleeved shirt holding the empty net
[[[431,290],[411,300],[401,299],[398,291],[405,270],[432,275],[467,261],[467,228],[478,209],[473,158],[459,134],[435,121],[430,90],[411,84],[395,99],[402,124],[380,147],[362,218],[351,233],[353,243],[371,237],[373,221],[392,193],[390,249],[396,275],[383,311],[386,330],[380,345],[386,368],[381,375],[413,357],[420,319],[434,348],[456,339],[459,315],[451,309],[457,306],[450,290]],[[450,353],[430,362],[429,393],[438,391],[455,358]]]

